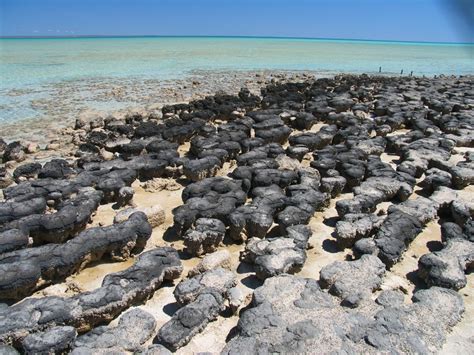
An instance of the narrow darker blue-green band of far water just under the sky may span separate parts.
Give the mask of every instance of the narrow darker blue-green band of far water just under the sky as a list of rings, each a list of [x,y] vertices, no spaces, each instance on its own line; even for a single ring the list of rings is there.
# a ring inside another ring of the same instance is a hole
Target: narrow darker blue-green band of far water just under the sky
[[[474,46],[474,42],[434,42],[434,41],[404,41],[388,39],[363,39],[363,38],[318,38],[318,37],[281,37],[281,36],[206,36],[206,35],[68,35],[68,36],[0,36],[0,39],[127,39],[127,38],[196,38],[196,39],[274,39],[274,40],[302,40],[315,42],[350,42],[350,43],[392,43],[415,45],[448,45],[448,46]]]

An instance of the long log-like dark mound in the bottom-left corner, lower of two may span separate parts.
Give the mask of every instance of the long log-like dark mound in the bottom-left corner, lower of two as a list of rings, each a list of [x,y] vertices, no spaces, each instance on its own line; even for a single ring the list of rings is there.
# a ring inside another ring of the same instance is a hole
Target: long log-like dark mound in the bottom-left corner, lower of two
[[[29,334],[45,331],[56,324],[75,327],[79,332],[109,322],[133,304],[143,302],[165,280],[182,272],[173,248],[143,253],[128,269],[109,274],[102,286],[69,298],[31,298],[0,309],[0,341],[17,344]]]

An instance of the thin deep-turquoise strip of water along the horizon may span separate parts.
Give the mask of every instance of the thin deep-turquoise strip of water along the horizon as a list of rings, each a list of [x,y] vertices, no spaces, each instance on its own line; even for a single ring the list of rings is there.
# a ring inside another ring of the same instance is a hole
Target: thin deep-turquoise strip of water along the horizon
[[[239,35],[67,35],[67,36],[0,36],[0,39],[81,39],[81,38],[248,38],[248,39],[297,39],[319,41],[351,41],[351,42],[389,42],[408,44],[445,44],[445,45],[474,45],[474,42],[437,42],[393,39],[363,39],[363,38],[332,38],[332,37],[296,37],[296,36],[239,36]]]

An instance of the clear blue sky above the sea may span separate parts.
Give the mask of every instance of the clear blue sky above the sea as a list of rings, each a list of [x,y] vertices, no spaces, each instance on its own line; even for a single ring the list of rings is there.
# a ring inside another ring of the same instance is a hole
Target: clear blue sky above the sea
[[[0,0],[0,36],[474,42],[474,0]]]

